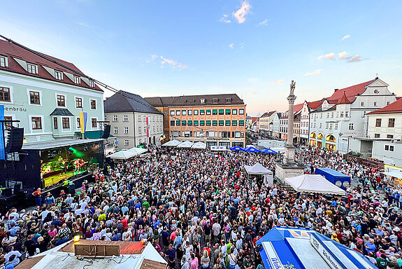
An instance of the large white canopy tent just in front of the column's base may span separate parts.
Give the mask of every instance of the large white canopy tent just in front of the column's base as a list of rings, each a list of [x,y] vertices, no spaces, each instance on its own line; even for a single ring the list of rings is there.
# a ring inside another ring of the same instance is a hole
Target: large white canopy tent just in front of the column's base
[[[302,174],[297,177],[287,177],[285,182],[300,193],[325,193],[345,195],[345,191],[322,177],[321,174]]]

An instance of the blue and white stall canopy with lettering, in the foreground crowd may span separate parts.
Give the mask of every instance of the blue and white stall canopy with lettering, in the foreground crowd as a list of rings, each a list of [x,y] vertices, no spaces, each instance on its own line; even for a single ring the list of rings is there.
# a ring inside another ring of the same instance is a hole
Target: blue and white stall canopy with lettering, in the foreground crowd
[[[257,245],[266,269],[376,268],[359,252],[305,228],[274,227]]]

